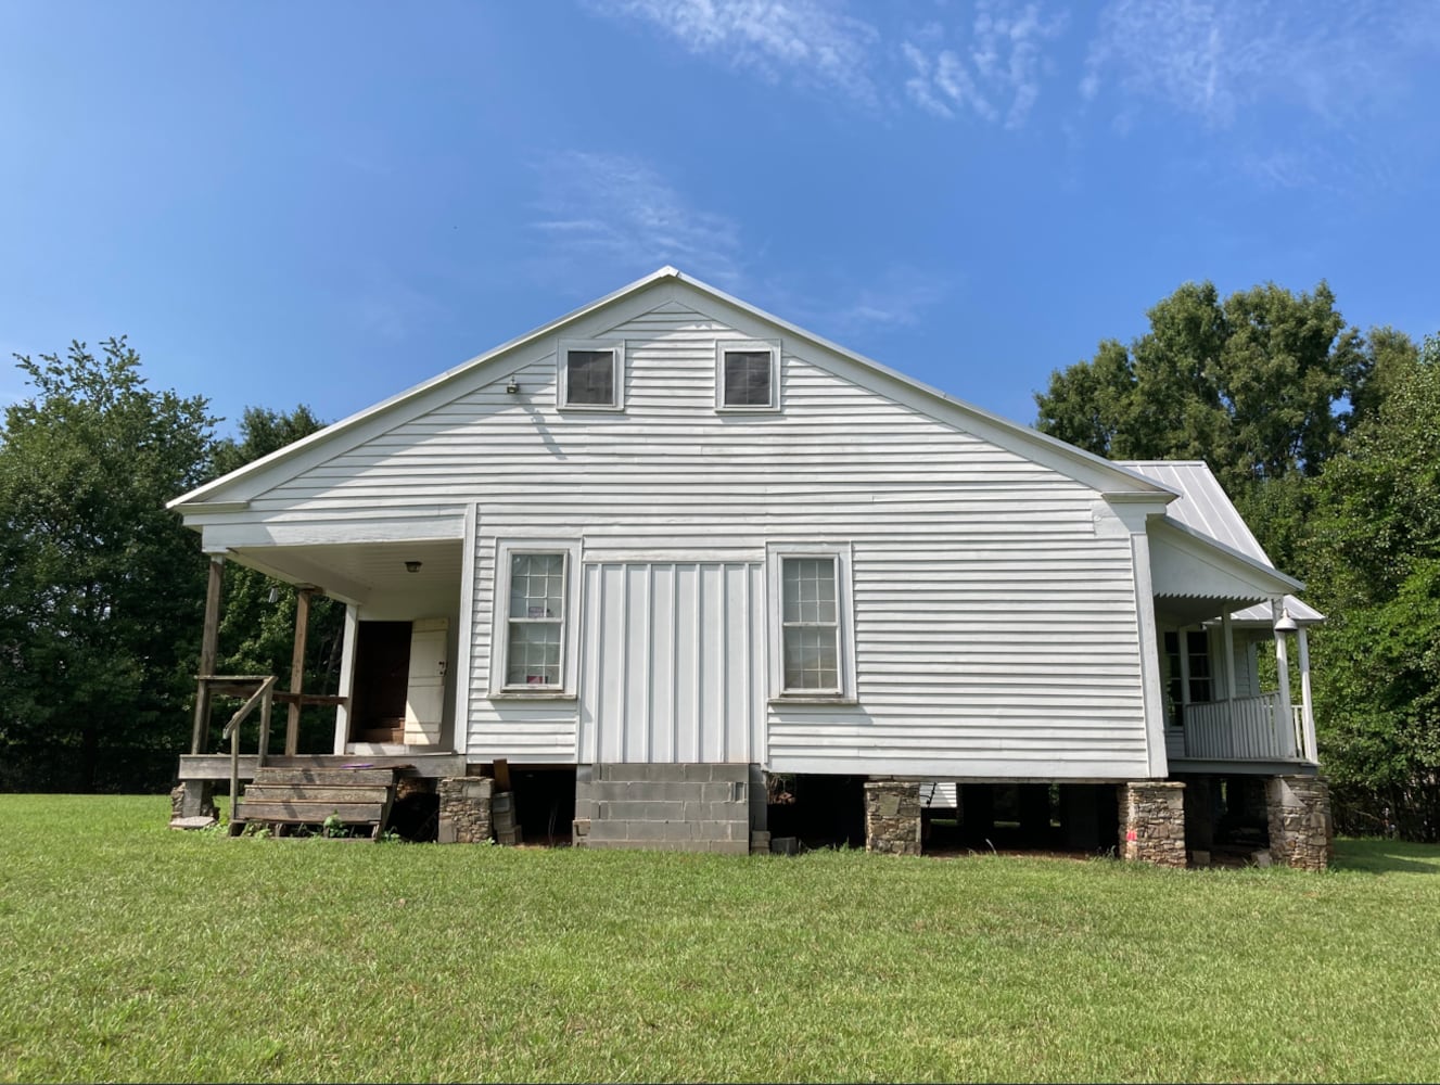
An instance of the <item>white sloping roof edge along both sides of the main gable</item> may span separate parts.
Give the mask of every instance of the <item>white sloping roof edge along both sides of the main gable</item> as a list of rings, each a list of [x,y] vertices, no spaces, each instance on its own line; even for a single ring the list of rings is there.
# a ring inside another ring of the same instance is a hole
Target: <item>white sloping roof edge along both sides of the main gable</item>
[[[912,377],[881,366],[877,361],[855,354],[845,347],[805,331],[789,321],[765,312],[749,302],[733,298],[708,283],[684,275],[675,268],[665,266],[651,275],[636,279],[628,286],[622,286],[603,298],[598,298],[588,305],[543,324],[524,335],[510,340],[508,342],[488,350],[484,354],[478,354],[469,361],[461,363],[445,373],[390,396],[389,399],[336,422],[323,430],[311,433],[292,445],[287,445],[268,456],[262,456],[261,459],[253,460],[229,475],[223,475],[222,478],[197,486],[189,494],[183,494],[181,496],[170,501],[167,508],[180,509],[181,512],[242,509],[245,508],[245,501],[251,496],[246,492],[249,489],[246,486],[248,482],[253,485],[253,482],[259,481],[262,476],[271,475],[276,468],[281,468],[287,462],[292,460],[297,462],[295,469],[300,471],[304,465],[312,462],[314,453],[321,449],[333,446],[334,453],[343,452],[350,448],[350,445],[346,443],[347,437],[353,442],[359,442],[366,433],[373,430],[373,426],[367,423],[390,414],[393,416],[393,422],[397,425],[399,422],[406,420],[408,407],[410,407],[415,413],[420,413],[423,403],[433,399],[432,393],[436,393],[445,386],[456,384],[464,378],[474,376],[478,370],[498,364],[504,357],[513,354],[514,351],[533,345],[547,335],[563,332],[566,328],[573,327],[592,314],[596,314],[608,307],[621,305],[628,299],[638,298],[641,294],[651,291],[661,283],[683,285],[690,291],[698,292],[710,302],[737,309],[750,319],[763,321],[785,332],[788,337],[808,342],[822,351],[840,355],[841,358],[860,366],[863,370],[873,373],[883,381],[896,381],[909,393],[926,400],[930,407],[930,413],[936,417],[948,420],[950,425],[975,433],[976,436],[989,439],[996,445],[1009,448],[1011,450],[1020,450],[1031,459],[1040,459],[1060,473],[1077,478],[1087,485],[1096,486],[1107,496],[1120,499],[1148,499],[1158,504],[1175,499],[1175,492],[1172,489],[1152,478],[1146,478],[1140,472],[1130,471],[1125,465],[1119,465],[1090,452],[1084,452],[1028,426],[1022,426],[998,414],[982,410],[981,407],[965,403],[963,400],[948,396],[937,389],[913,380]]]

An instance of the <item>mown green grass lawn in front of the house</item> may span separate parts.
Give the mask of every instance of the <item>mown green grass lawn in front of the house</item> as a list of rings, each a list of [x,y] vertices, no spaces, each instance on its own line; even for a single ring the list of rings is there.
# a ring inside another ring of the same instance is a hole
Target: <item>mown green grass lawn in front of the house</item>
[[[1181,872],[167,816],[0,796],[0,1079],[1440,1078],[1436,848]]]

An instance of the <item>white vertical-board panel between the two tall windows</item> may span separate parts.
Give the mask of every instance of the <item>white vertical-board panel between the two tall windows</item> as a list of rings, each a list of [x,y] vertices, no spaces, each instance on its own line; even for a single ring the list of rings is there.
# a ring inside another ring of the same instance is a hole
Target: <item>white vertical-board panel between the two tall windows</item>
[[[759,563],[585,566],[580,760],[763,758]]]

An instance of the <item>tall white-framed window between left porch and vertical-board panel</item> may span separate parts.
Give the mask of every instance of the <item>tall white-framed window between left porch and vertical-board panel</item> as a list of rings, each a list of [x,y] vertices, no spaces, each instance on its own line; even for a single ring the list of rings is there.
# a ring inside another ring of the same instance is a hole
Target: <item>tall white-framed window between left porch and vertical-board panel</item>
[[[573,692],[573,566],[570,544],[501,544],[495,564],[495,692]]]

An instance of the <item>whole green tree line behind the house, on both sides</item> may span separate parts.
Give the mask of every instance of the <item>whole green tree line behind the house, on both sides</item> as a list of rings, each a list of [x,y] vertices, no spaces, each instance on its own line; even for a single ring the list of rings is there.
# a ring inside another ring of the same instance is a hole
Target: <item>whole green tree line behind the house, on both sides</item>
[[[1348,327],[1325,282],[1185,283],[1132,342],[1035,394],[1035,426],[1113,459],[1204,459],[1328,614],[1316,727],[1339,826],[1440,826],[1440,337]],[[151,389],[124,338],[17,357],[0,427],[0,790],[153,790],[187,741],[199,537],[166,502],[315,432],[305,406]],[[274,594],[274,597],[272,597]],[[219,671],[288,675],[295,597],[228,563]],[[307,689],[333,692],[343,609],[315,600]],[[328,724],[311,724],[324,731]]]

